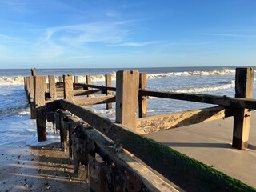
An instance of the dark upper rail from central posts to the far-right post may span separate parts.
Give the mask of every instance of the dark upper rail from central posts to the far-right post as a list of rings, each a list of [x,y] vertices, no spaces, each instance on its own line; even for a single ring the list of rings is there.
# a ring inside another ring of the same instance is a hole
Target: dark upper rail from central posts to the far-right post
[[[157,98],[172,98],[188,102],[203,102],[219,106],[256,110],[256,99],[253,98],[229,98],[226,96],[221,97],[206,94],[172,93],[153,90],[139,90],[139,94],[143,96],[151,96]]]

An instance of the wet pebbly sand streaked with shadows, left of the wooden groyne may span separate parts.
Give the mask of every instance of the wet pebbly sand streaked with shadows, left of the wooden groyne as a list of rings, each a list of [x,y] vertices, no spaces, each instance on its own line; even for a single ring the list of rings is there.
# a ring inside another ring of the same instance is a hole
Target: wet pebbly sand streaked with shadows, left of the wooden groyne
[[[83,166],[78,178],[57,144],[30,148],[22,143],[0,146],[0,191],[90,191]]]

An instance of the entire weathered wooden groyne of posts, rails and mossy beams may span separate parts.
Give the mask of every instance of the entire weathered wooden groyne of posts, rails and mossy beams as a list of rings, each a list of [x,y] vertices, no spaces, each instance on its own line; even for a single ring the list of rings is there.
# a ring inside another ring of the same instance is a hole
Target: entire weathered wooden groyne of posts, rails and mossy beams
[[[37,122],[38,141],[46,140],[46,120],[52,122],[60,132],[63,150],[73,158],[74,173],[78,174],[79,164],[84,164],[92,190],[118,191],[121,187],[126,191],[176,191],[170,181],[186,189],[186,184],[179,181],[182,178],[188,180],[189,187],[254,191],[242,182],[142,136],[234,116],[232,146],[246,148],[250,111],[256,109],[256,100],[252,99],[253,68],[236,69],[235,98],[146,90],[146,74],[138,71],[118,71],[116,87],[111,86],[110,75],[106,75],[106,86],[96,86],[92,85],[89,75],[86,84],[78,83],[78,78],[71,75],[58,77],[56,83],[56,77],[50,75],[46,83],[46,77],[36,75],[36,70],[31,72],[24,82],[31,118],[36,118]],[[149,96],[217,106],[147,117]],[[64,99],[57,99],[59,97]],[[106,103],[106,108],[110,109],[113,102],[115,122],[82,107]]]

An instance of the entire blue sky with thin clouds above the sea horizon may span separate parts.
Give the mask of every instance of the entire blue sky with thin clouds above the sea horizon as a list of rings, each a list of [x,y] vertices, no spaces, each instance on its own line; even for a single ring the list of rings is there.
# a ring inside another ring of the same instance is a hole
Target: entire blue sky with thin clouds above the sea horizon
[[[0,68],[256,66],[254,0],[0,0]]]

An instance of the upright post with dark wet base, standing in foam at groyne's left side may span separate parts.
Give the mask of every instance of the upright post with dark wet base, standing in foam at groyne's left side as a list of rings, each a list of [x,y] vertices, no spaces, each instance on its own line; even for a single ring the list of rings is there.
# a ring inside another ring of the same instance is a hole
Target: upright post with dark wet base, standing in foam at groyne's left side
[[[34,101],[36,106],[36,121],[38,142],[46,141],[46,77],[34,76]]]

